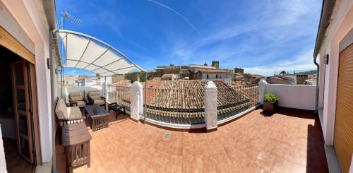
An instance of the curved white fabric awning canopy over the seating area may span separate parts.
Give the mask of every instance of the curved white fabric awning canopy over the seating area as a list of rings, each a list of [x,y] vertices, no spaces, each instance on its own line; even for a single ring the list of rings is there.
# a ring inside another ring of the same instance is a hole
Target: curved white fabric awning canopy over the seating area
[[[56,33],[65,48],[64,67],[81,68],[100,76],[145,71],[119,50],[95,37],[70,30],[56,30]]]

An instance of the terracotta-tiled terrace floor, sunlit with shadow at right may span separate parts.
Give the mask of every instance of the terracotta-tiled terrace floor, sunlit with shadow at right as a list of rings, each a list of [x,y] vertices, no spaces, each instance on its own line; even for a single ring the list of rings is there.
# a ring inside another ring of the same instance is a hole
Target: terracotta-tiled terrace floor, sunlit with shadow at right
[[[328,172],[316,115],[297,109],[280,109],[272,117],[261,112],[212,133],[169,131],[121,116],[107,129],[90,131],[91,167],[73,172]],[[64,172],[59,145],[56,155]]]

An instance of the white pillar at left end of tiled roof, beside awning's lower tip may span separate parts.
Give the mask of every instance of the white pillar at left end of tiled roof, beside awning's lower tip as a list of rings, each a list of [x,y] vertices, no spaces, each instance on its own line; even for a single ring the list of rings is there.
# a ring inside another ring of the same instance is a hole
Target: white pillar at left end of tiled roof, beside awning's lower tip
[[[138,81],[134,82],[130,86],[130,117],[136,121],[140,120],[140,114],[143,110],[143,97],[142,97],[142,85]]]

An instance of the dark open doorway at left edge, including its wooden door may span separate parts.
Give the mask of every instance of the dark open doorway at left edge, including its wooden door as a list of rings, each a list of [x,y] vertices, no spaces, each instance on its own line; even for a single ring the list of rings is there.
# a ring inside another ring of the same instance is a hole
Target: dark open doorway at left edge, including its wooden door
[[[33,172],[36,152],[30,68],[34,65],[1,45],[0,56],[0,124],[6,169]]]

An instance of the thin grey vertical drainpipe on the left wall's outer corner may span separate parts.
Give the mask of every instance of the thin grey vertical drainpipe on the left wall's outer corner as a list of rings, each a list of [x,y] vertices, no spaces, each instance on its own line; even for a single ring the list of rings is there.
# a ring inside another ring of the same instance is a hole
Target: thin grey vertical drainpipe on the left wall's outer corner
[[[51,115],[52,115],[52,172],[57,172],[56,170],[56,150],[55,150],[55,114],[54,114],[54,78],[55,72],[54,72],[54,58],[53,58],[53,35],[52,32],[49,30],[49,62],[50,62],[50,98],[51,98]]]

